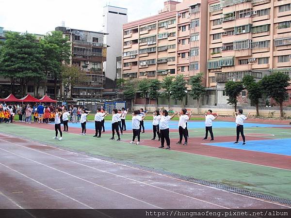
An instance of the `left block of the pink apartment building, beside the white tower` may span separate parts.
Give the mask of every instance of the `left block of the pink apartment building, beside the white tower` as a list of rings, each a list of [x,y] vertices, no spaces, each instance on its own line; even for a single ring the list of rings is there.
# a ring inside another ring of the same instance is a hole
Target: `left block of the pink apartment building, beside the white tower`
[[[206,73],[207,7],[205,0],[169,0],[158,15],[124,24],[122,77]]]

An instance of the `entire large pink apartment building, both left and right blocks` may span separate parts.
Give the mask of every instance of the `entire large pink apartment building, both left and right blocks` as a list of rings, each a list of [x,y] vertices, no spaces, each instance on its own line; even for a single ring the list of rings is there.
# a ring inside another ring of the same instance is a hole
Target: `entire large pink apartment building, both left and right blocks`
[[[188,80],[203,72],[204,103],[225,104],[228,80],[291,76],[290,7],[291,0],[166,1],[158,15],[123,25],[122,77]]]

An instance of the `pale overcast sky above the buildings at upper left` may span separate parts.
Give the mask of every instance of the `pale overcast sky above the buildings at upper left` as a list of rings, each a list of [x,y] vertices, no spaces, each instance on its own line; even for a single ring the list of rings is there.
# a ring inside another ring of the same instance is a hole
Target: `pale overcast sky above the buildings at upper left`
[[[158,14],[165,0],[0,0],[0,27],[4,30],[46,34],[55,27],[102,31],[103,7],[128,9],[134,21]]]

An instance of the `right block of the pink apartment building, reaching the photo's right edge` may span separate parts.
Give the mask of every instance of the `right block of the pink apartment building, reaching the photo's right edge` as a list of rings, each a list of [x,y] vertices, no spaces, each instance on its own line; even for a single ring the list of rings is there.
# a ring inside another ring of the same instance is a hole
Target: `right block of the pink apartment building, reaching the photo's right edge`
[[[226,81],[242,81],[245,75],[259,80],[274,71],[291,76],[291,0],[208,4],[207,86],[216,90],[216,103],[226,103]],[[246,95],[241,93],[242,103]]]

